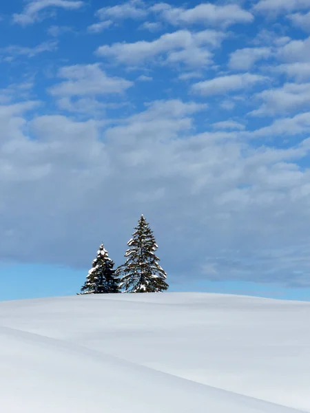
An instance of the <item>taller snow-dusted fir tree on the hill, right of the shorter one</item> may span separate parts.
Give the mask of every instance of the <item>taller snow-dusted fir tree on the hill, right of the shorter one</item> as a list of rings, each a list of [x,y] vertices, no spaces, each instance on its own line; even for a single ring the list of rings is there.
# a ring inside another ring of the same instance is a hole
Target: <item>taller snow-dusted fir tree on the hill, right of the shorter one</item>
[[[116,269],[119,287],[124,293],[157,293],[167,290],[167,274],[158,264],[159,258],[155,255],[158,246],[143,215],[127,245],[130,247],[125,253],[127,260]]]

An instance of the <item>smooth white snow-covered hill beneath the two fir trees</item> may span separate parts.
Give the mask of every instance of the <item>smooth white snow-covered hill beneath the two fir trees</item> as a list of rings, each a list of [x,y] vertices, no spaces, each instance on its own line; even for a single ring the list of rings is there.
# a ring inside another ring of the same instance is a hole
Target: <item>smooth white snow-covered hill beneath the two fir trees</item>
[[[3,302],[1,412],[310,412],[309,320],[218,294]]]

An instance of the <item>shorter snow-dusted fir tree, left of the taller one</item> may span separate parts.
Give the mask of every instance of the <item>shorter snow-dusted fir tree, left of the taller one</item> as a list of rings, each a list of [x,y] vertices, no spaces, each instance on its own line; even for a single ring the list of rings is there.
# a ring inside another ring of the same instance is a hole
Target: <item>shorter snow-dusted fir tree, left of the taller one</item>
[[[101,244],[80,294],[119,293],[118,280],[113,267],[114,262]]]

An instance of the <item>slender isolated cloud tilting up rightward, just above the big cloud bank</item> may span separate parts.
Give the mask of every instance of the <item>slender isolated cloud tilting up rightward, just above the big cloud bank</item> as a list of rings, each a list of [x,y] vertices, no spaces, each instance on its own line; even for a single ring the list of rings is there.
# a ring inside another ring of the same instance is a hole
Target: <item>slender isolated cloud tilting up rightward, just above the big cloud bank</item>
[[[192,85],[192,92],[203,96],[211,96],[246,89],[256,85],[256,83],[262,83],[267,80],[268,78],[266,76],[260,76],[258,74],[231,74],[213,78],[210,81],[195,83]]]

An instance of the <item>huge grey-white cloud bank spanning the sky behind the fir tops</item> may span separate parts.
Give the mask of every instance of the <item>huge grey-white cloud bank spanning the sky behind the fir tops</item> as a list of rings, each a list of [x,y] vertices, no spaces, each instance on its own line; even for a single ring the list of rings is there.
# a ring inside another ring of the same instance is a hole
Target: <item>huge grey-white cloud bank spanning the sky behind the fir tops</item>
[[[309,140],[287,149],[251,148],[240,140],[242,130],[196,134],[194,116],[205,106],[180,100],[152,102],[105,130],[94,120],[21,118],[32,105],[0,108],[1,257],[87,265],[104,221],[110,253],[121,262],[120,245],[143,202],[169,273],[191,271],[197,279],[205,257],[225,254],[229,262],[231,254],[240,268],[253,258],[259,271],[238,272],[222,260],[219,279],[266,281],[274,271],[289,284],[296,282],[289,262],[299,271],[309,265],[296,264],[294,253],[285,265],[282,257],[293,248],[305,251],[297,246],[309,237],[310,173],[298,168]],[[310,127],[310,116],[293,122]],[[266,266],[262,250],[272,255]]]

